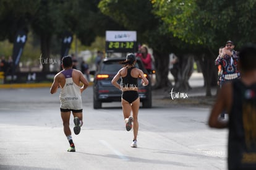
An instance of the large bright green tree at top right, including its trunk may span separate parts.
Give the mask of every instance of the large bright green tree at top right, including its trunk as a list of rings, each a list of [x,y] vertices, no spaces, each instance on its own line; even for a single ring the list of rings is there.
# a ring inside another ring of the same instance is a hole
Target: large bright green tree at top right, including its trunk
[[[204,66],[207,95],[211,95],[213,60],[217,54],[214,51],[217,51],[227,40],[237,42],[238,47],[248,41],[255,42],[255,33],[252,31],[256,26],[253,20],[255,1],[153,0],[151,2],[155,14],[163,20],[163,29],[193,46],[192,51],[197,53],[198,59]]]

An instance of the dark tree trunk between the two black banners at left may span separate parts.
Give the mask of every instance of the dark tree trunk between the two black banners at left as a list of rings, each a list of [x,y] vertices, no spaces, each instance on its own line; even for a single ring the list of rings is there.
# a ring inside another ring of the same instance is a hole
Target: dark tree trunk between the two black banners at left
[[[50,64],[50,42],[51,35],[47,33],[41,33],[40,35],[41,41],[41,57],[40,62],[43,65],[43,72],[49,72],[49,64]]]

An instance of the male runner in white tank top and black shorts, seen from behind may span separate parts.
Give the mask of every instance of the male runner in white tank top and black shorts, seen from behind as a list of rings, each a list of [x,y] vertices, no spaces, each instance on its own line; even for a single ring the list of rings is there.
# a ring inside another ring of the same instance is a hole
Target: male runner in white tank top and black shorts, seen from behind
[[[80,127],[83,124],[81,93],[88,87],[89,83],[83,77],[82,72],[72,69],[72,57],[63,57],[61,66],[64,70],[55,75],[54,82],[51,85],[51,94],[56,93],[58,88],[61,87],[61,94],[59,95],[61,101],[61,118],[64,125],[64,134],[70,144],[70,148],[67,151],[75,151],[75,145],[69,128],[70,112],[72,111],[74,116],[74,133],[78,135],[80,133]],[[83,83],[82,87],[80,87],[80,82]]]

